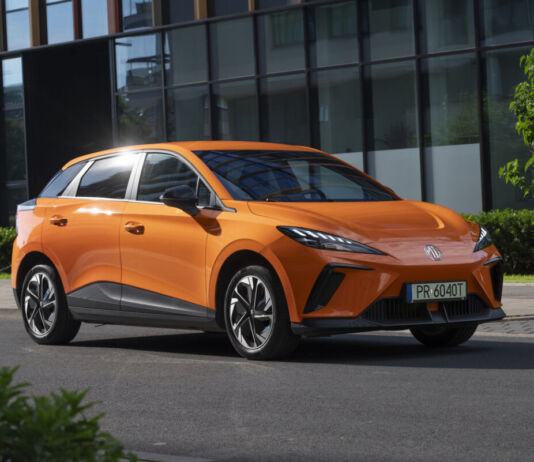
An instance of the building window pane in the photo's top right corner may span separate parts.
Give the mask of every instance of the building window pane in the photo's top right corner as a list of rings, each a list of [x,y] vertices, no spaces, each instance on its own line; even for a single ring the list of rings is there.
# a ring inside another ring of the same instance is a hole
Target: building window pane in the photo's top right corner
[[[534,0],[479,0],[481,45],[534,40]]]

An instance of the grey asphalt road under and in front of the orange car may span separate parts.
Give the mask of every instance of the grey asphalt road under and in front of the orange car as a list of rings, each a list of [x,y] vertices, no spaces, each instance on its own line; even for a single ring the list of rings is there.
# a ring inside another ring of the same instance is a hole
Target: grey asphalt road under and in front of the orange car
[[[129,449],[215,460],[523,461],[534,439],[534,335],[429,350],[406,334],[306,340],[249,362],[224,336],[86,325],[45,347],[0,317],[1,365],[35,393],[91,389]],[[533,321],[534,322],[534,321]]]

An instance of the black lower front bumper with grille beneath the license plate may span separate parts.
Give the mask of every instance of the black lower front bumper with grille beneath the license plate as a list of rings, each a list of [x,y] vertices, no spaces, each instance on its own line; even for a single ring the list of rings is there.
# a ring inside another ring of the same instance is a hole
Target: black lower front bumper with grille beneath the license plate
[[[466,300],[441,302],[431,310],[426,303],[407,303],[402,297],[382,298],[352,318],[305,318],[292,323],[297,335],[319,336],[372,330],[403,330],[431,325],[481,324],[504,318],[501,308],[492,308],[476,294]]]

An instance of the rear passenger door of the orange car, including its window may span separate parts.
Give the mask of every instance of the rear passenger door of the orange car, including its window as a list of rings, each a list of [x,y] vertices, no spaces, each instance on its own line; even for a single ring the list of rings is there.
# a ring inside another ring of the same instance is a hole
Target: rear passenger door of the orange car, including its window
[[[43,246],[62,270],[71,307],[120,307],[119,227],[139,158],[120,154],[87,162],[47,207]]]

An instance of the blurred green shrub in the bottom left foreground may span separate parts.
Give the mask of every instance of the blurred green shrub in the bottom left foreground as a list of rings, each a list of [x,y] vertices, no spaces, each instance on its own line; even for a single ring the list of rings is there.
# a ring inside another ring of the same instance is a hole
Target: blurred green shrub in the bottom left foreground
[[[137,460],[100,430],[101,415],[85,416],[94,404],[82,403],[87,391],[30,398],[24,394],[27,383],[12,383],[16,371],[0,369],[0,462]]]

